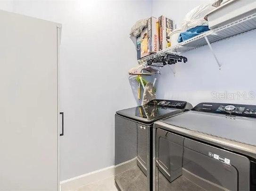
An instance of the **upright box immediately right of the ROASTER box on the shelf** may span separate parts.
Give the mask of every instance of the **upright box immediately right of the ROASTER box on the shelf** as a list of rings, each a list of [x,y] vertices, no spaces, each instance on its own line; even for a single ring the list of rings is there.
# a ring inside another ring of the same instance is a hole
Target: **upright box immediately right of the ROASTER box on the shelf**
[[[173,20],[160,16],[159,21],[159,50],[164,50],[171,46],[168,34],[173,31]]]

